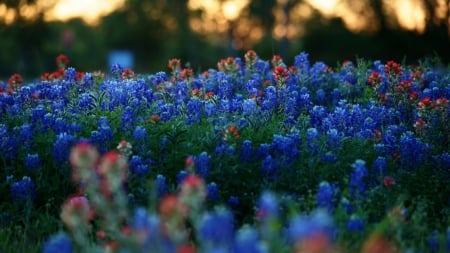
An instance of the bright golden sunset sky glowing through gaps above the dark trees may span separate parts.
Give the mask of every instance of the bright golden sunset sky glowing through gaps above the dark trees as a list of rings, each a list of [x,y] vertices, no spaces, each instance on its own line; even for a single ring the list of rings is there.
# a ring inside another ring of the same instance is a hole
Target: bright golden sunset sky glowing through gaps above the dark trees
[[[107,15],[117,10],[126,0],[40,0],[37,6],[24,5],[20,9],[21,16],[33,18],[41,10],[45,12],[45,20],[69,20],[71,18],[83,18],[88,24],[95,25],[101,16]],[[447,12],[450,6],[446,0],[436,0],[435,23],[450,23]],[[250,0],[189,0],[190,10],[200,10],[199,16],[193,16],[189,20],[189,25],[193,31],[204,34],[214,40],[220,39],[220,34],[233,30],[234,37],[241,37],[243,40],[255,41],[264,35],[261,20],[257,20],[248,15],[248,5]],[[311,17],[314,11],[318,11],[325,18],[341,18],[345,26],[354,32],[376,31],[377,22],[374,22],[375,14],[371,8],[367,8],[365,1],[341,1],[341,0],[305,0],[290,7],[289,13],[285,13],[284,5],[288,0],[277,0],[277,4],[272,10],[275,17],[275,26],[272,34],[280,39],[289,39],[302,36],[305,32],[304,24]],[[425,31],[427,14],[422,1],[419,0],[384,0],[383,5],[389,25],[398,26],[404,29]],[[148,13],[154,18],[161,16],[155,13],[156,10],[149,10]],[[6,8],[5,4],[0,4],[0,20],[7,24],[14,22],[15,11]],[[287,16],[288,15],[288,16]],[[159,19],[159,17],[158,17]],[[164,18],[167,28],[174,28],[173,18]],[[233,26],[233,27],[232,27]],[[450,32],[450,31],[449,31]],[[244,37],[248,37],[244,39]]]

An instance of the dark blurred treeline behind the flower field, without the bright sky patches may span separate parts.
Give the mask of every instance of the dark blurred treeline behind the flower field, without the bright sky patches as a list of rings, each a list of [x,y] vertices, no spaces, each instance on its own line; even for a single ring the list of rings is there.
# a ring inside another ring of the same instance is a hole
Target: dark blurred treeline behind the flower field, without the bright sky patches
[[[103,17],[95,26],[81,19],[45,22],[45,10],[34,18],[24,18],[22,5],[36,4],[36,0],[1,0],[0,5],[16,10],[16,16],[9,24],[0,22],[0,77],[20,72],[33,78],[52,71],[59,53],[67,54],[70,65],[77,70],[105,71],[112,50],[132,52],[135,70],[141,73],[166,70],[167,61],[174,57],[201,71],[215,66],[217,59],[242,56],[248,49],[263,58],[280,54],[288,63],[299,51],[308,52],[313,61],[331,65],[357,57],[413,62],[439,56],[444,64],[450,61],[450,1],[445,1],[446,16],[442,11],[436,13],[443,1],[423,1],[427,19],[421,34],[403,30],[395,22],[392,25],[382,0],[361,1],[375,15],[371,22],[376,29],[359,33],[348,30],[340,18],[325,18],[317,10],[299,23],[292,17],[299,11],[296,6],[306,1],[283,2],[252,0],[240,17],[225,23],[215,20],[217,31],[199,32],[192,29],[190,22],[202,19],[205,10],[189,8],[188,0],[127,0],[123,8]],[[281,11],[281,21],[275,10]],[[218,13],[217,17],[222,16]],[[276,35],[274,30],[280,22],[286,29],[302,26],[302,33]],[[221,30],[220,24],[227,25],[227,29]],[[260,36],[252,40],[249,33],[253,30],[242,26],[258,28]]]

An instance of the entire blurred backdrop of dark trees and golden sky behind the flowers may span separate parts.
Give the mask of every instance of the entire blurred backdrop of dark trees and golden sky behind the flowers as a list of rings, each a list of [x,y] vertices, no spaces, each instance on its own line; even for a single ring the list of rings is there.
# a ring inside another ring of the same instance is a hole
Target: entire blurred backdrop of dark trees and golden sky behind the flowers
[[[38,77],[69,56],[78,71],[138,73],[179,58],[195,71],[253,49],[312,61],[450,61],[450,0],[0,0],[0,78]]]

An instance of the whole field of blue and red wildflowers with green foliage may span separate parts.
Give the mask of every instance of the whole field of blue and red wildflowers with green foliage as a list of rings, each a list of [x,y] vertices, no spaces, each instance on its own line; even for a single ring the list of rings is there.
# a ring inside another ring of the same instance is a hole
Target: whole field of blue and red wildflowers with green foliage
[[[0,252],[450,252],[450,66],[0,81]]]

